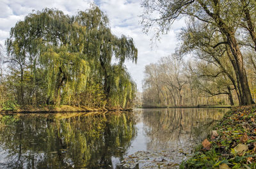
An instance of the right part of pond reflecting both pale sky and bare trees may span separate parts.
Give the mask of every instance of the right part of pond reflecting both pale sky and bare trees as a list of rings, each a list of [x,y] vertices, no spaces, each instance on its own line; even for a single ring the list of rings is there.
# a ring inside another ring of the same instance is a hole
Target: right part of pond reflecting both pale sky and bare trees
[[[136,109],[138,136],[132,141],[127,152],[129,155],[137,151],[156,152],[172,158],[166,163],[179,164],[193,153],[195,145],[204,140],[227,110],[227,108]],[[147,158],[154,161],[157,157]]]

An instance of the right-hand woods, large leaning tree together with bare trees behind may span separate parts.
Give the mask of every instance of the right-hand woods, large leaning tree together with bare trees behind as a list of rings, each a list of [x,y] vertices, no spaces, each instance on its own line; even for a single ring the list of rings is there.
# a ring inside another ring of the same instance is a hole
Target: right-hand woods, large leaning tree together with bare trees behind
[[[175,52],[145,66],[145,107],[255,102],[255,1],[148,0],[143,7],[143,30],[155,28],[155,38],[186,20]]]

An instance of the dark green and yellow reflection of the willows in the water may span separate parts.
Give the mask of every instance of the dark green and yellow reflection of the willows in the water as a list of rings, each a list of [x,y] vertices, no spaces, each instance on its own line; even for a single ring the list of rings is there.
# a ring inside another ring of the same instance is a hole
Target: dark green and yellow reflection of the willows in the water
[[[0,148],[8,155],[0,168],[108,168],[134,130],[128,113],[2,116]]]

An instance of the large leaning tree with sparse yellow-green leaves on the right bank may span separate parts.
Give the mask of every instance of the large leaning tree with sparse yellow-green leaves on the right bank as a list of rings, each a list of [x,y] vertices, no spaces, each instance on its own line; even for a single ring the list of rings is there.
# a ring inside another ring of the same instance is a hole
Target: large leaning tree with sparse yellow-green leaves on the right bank
[[[189,47],[186,49],[194,51],[204,47],[208,52],[228,55],[230,66],[235,73],[240,104],[253,103],[244,68],[243,47],[255,49],[255,1],[144,0],[142,6],[144,31],[147,33],[152,27],[157,27],[156,37],[168,33],[175,20],[188,18],[193,26],[188,24],[186,28],[188,36],[183,39]],[[248,37],[248,40],[244,36]],[[192,44],[189,44],[191,42]],[[214,59],[214,55],[211,57]]]

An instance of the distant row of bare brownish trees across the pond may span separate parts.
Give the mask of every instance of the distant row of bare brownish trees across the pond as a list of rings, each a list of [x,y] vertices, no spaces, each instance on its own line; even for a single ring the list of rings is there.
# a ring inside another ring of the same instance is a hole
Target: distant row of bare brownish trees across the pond
[[[252,62],[248,59],[250,57],[246,55],[247,77],[254,100],[255,71]],[[222,61],[228,60],[223,57]],[[142,99],[144,107],[239,105],[239,98],[232,81],[216,65],[206,61],[195,58],[184,61],[175,55],[169,55],[145,66],[144,73]]]

